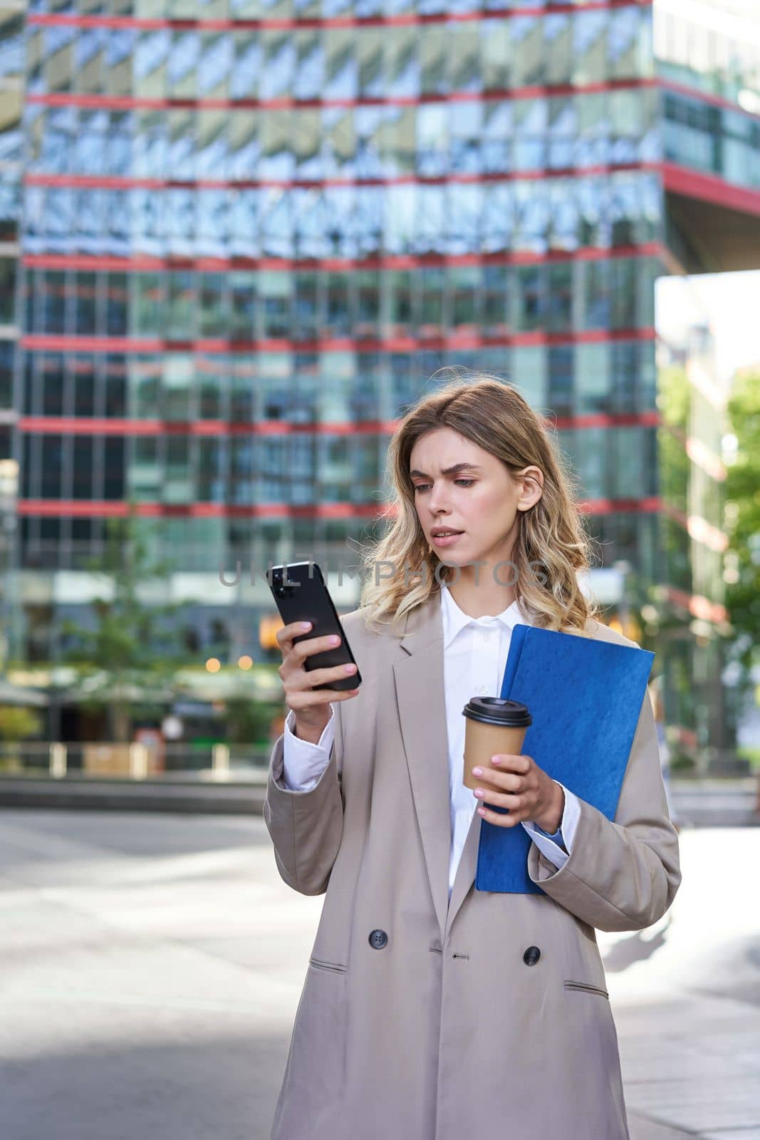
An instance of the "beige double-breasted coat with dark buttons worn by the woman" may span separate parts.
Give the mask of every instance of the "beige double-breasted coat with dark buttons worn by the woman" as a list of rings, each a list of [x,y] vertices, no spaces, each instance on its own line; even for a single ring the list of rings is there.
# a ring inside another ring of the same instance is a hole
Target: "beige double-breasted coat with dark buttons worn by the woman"
[[[680,882],[648,697],[614,822],[581,800],[561,870],[531,844],[544,894],[506,895],[475,890],[474,813],[449,902],[440,596],[395,632],[341,620],[363,683],[327,768],[296,792],[283,736],[270,760],[279,873],[326,893],[271,1140],[628,1140],[595,928],[649,926]]]

